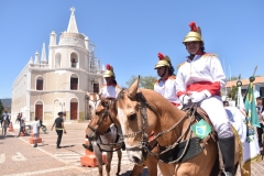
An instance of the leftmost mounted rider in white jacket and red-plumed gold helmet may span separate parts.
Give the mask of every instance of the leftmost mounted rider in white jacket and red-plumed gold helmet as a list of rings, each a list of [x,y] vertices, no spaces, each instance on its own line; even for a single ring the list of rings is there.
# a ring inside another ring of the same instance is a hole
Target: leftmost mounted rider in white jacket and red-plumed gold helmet
[[[99,94],[103,98],[116,99],[116,97],[118,96],[119,86],[118,86],[118,82],[116,80],[116,75],[113,73],[113,67],[111,65],[107,64],[106,68],[107,68],[107,70],[103,73],[102,76],[105,77],[105,80],[106,80],[107,84],[105,84],[100,88],[100,92]],[[91,143],[82,144],[82,146],[85,148],[89,150],[89,151],[94,151]]]

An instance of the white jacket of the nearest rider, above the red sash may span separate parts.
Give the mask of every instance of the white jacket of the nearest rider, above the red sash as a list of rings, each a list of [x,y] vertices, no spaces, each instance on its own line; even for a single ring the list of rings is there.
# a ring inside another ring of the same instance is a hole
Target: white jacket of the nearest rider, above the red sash
[[[187,61],[179,67],[176,77],[176,92],[179,97],[179,91],[187,91],[187,87],[196,82],[219,82],[220,88],[226,85],[226,76],[222,70],[220,61],[213,54],[195,55],[194,59]],[[202,89],[210,92],[210,86],[205,86]],[[194,91],[194,90],[193,90]],[[195,90],[196,91],[196,90]],[[212,94],[212,92],[211,92]]]

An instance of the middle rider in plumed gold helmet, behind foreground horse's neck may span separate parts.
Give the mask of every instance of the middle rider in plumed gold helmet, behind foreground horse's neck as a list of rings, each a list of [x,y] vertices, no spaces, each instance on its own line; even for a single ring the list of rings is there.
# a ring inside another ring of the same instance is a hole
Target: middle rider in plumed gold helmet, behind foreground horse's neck
[[[170,58],[164,56],[162,53],[158,53],[157,56],[160,61],[156,63],[154,69],[157,70],[157,75],[161,78],[155,81],[154,90],[179,108],[180,103],[176,95],[176,76],[174,75]]]

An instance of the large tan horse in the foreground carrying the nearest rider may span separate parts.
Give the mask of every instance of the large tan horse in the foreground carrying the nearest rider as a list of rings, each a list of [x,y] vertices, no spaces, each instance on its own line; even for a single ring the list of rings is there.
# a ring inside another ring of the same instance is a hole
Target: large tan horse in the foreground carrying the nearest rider
[[[162,150],[167,152],[185,142],[183,151],[186,151],[189,144],[188,138],[191,135],[189,127],[195,119],[190,119],[190,116],[175,108],[157,92],[139,89],[139,79],[128,90],[119,94],[114,107],[109,113],[111,116],[118,113],[117,118],[122,128],[128,157],[131,162],[139,165],[144,162],[145,156],[150,153],[146,140],[154,131],[161,150],[158,166],[164,176],[209,176],[215,172],[216,165],[219,163],[218,147],[211,138],[196,143],[195,146],[201,151],[193,157],[183,162],[178,158],[176,162],[168,163],[161,161]],[[234,165],[239,164],[238,143],[237,139]],[[189,148],[191,147],[194,147],[193,143]],[[184,158],[184,153],[180,154],[180,158]],[[178,155],[178,153],[172,155]],[[215,175],[218,174],[219,172]]]

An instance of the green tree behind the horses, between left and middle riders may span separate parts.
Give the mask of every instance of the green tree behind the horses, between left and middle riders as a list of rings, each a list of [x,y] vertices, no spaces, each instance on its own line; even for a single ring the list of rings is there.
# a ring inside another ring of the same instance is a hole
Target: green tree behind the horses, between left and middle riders
[[[138,76],[132,75],[131,78],[125,82],[125,85],[130,87],[136,79],[138,79]],[[139,86],[141,88],[153,90],[155,80],[156,80],[156,77],[154,76],[141,76]]]

